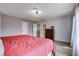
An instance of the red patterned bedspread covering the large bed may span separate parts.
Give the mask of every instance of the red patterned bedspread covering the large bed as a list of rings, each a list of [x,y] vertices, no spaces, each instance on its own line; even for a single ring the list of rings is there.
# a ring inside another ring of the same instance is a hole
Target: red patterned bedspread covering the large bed
[[[30,35],[1,37],[5,56],[47,56],[55,52],[53,41]]]

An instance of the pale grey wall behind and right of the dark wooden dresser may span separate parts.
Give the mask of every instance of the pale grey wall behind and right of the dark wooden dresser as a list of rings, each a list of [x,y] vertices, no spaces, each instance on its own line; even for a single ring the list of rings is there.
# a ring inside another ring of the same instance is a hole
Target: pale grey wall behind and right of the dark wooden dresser
[[[54,26],[55,28],[55,40],[70,42],[71,29],[72,29],[72,16],[63,16],[56,19],[45,20],[39,22],[41,27],[46,24],[47,28]],[[43,30],[41,28],[41,37],[43,37]]]

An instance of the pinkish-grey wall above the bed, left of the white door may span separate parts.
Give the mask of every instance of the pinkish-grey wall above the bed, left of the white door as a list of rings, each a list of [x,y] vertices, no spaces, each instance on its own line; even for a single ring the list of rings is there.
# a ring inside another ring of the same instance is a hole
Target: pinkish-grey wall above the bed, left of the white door
[[[11,16],[2,16],[2,35],[16,35],[21,34],[21,20],[11,17]]]

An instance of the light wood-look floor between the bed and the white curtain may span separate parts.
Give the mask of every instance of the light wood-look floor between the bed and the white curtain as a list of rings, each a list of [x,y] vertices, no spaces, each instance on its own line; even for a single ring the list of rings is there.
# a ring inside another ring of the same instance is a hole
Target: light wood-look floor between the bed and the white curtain
[[[56,56],[72,56],[72,48],[69,43],[55,41]]]

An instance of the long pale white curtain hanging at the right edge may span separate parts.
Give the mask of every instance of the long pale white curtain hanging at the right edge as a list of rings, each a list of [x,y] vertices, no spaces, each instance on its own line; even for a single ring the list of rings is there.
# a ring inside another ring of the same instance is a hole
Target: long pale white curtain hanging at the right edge
[[[79,7],[75,10],[73,17],[71,46],[73,48],[73,56],[79,56]]]

